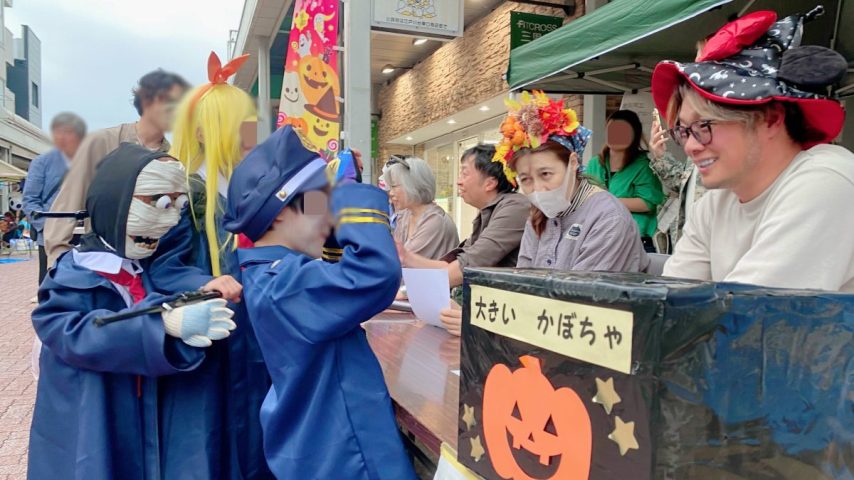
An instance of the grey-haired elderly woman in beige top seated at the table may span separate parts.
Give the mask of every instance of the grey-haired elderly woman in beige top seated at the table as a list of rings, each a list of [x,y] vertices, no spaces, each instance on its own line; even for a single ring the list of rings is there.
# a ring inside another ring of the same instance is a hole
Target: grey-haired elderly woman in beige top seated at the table
[[[457,248],[457,227],[434,203],[436,177],[417,157],[394,158],[388,169],[389,198],[397,212],[394,239],[410,252],[433,260]]]

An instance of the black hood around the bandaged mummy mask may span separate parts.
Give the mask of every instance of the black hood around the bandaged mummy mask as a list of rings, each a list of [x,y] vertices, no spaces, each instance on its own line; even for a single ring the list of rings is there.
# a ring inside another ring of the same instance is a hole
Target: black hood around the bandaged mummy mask
[[[150,162],[168,156],[137,144],[123,143],[104,157],[98,164],[86,195],[86,210],[92,222],[92,232],[81,239],[78,247],[80,251],[111,252],[125,257],[128,211],[136,189],[136,179]],[[104,245],[104,242],[115,250]]]

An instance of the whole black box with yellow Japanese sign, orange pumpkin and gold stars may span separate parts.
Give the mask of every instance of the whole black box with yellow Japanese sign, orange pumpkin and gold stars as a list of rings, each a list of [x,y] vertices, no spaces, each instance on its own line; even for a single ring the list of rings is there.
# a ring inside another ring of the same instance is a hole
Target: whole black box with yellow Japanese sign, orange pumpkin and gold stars
[[[850,478],[854,296],[466,270],[458,459],[490,480]],[[846,433],[847,432],[847,433]]]

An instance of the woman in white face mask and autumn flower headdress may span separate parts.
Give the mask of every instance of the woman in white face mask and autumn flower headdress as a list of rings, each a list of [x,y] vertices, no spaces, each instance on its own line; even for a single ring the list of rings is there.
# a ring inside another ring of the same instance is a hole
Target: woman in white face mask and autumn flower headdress
[[[649,260],[631,215],[617,198],[578,173],[590,131],[576,118],[563,101],[540,92],[523,96],[518,109],[511,106],[505,125],[513,127],[502,129],[505,141],[496,156],[504,155],[498,161],[507,162],[534,206],[517,266],[642,271]]]

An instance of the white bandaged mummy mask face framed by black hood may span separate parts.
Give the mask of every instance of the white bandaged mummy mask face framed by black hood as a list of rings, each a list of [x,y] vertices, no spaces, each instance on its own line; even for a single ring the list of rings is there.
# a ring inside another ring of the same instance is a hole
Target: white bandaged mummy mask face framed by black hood
[[[125,257],[150,257],[160,239],[181,219],[187,205],[186,173],[180,162],[163,158],[139,173],[128,211]]]

